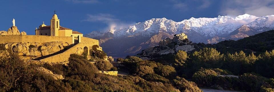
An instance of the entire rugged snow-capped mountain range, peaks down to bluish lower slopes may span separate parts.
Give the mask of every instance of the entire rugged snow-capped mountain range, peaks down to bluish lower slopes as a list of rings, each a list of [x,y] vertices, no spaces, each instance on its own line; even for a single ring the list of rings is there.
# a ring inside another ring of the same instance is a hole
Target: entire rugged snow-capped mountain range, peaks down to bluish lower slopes
[[[185,33],[190,41],[196,43],[217,43],[225,39],[237,40],[273,29],[274,15],[257,17],[243,14],[236,17],[192,17],[181,22],[166,18],[152,18],[128,28],[114,28],[106,32],[93,31],[85,36],[99,39],[101,46],[106,48],[104,51],[108,54],[121,56],[135,54],[147,47],[157,46],[156,43],[160,40],[172,37],[174,34]],[[118,55],[118,53],[122,54]]]

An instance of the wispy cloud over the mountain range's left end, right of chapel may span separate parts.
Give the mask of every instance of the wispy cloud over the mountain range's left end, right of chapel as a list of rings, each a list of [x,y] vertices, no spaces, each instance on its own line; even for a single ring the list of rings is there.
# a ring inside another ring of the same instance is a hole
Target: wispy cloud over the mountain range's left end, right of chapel
[[[108,27],[104,28],[103,30],[113,29],[113,28],[127,28],[130,25],[136,24],[136,22],[123,22],[112,14],[105,14],[105,13],[99,13],[99,14],[88,14],[88,17],[83,21],[88,22],[99,22],[107,24]]]

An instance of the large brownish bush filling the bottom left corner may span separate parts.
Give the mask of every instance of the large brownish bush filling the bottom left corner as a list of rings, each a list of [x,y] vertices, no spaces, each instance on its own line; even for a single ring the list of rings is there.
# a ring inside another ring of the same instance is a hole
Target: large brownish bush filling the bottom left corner
[[[33,77],[31,67],[17,55],[10,54],[10,58],[0,59],[0,91],[19,91]]]

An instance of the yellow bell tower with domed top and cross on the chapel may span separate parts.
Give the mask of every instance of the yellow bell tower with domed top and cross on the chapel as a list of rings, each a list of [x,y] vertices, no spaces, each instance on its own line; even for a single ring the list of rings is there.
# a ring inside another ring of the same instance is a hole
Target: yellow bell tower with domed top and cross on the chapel
[[[57,14],[52,16],[51,19],[51,36],[59,36],[59,27],[60,27],[60,20],[57,17]]]

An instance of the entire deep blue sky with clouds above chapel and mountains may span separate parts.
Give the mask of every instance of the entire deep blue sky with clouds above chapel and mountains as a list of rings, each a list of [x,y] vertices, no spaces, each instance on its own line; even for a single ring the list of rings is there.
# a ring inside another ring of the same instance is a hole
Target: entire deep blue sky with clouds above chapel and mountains
[[[0,30],[7,31],[15,18],[20,32],[34,35],[43,21],[49,25],[56,10],[61,26],[88,34],[151,18],[266,16],[273,14],[274,0],[1,0],[0,6]]]

